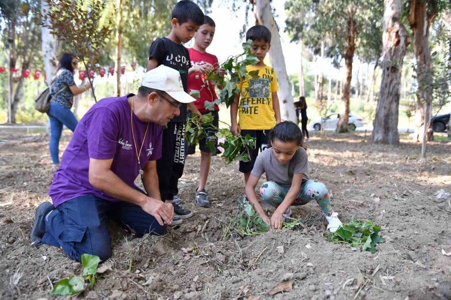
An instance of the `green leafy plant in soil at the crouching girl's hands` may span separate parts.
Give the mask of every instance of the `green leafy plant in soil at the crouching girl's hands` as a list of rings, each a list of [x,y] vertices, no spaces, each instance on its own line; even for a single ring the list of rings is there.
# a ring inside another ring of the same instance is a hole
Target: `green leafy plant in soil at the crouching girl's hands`
[[[235,229],[244,235],[258,235],[268,232],[270,225],[266,223],[247,200],[238,200],[241,212],[235,222]],[[301,226],[302,219],[288,218],[289,222],[282,223],[282,229],[294,229]]]

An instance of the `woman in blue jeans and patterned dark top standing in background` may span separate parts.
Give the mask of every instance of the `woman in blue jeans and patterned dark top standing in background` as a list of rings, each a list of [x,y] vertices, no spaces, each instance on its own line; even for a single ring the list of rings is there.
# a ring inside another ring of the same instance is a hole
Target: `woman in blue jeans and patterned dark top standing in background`
[[[75,84],[74,71],[77,68],[77,65],[77,57],[72,53],[64,53],[60,58],[58,71],[52,82],[52,92],[50,96],[55,98],[50,103],[47,114],[50,118],[50,155],[52,156],[52,162],[55,167],[60,165],[59,145],[63,125],[66,125],[66,127],[74,132],[75,127],[77,127],[78,124],[77,118],[71,111],[72,104],[74,103],[74,96],[91,88],[89,83],[80,86]],[[63,87],[65,88],[62,89]]]

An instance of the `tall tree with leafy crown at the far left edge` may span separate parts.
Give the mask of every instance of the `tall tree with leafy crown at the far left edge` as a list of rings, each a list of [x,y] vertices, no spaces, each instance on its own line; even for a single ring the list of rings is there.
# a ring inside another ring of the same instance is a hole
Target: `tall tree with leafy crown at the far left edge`
[[[37,23],[40,11],[39,0],[5,0],[0,2],[2,22],[5,22],[3,34],[9,43],[9,107],[8,121],[16,122],[16,112],[19,102],[23,98],[24,72],[23,70],[35,66],[39,57],[41,42],[41,26]],[[14,71],[18,69],[17,71]],[[16,88],[14,88],[14,83]]]

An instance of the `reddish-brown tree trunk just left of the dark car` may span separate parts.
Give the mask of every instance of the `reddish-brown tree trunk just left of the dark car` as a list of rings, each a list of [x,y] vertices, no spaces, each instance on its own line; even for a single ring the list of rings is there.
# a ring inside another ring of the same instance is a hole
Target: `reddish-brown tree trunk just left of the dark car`
[[[424,114],[421,116],[423,132],[421,132],[422,145],[421,157],[426,157],[426,141],[432,140],[432,128],[430,119],[432,117],[432,59],[429,49],[429,27],[435,18],[436,11],[427,11],[426,1],[411,0],[409,11],[409,24],[413,31],[413,52],[416,58],[416,73],[418,80],[418,104],[424,106]],[[418,109],[420,111],[420,109]],[[417,124],[418,125],[418,124]],[[418,127],[415,132],[420,134]]]

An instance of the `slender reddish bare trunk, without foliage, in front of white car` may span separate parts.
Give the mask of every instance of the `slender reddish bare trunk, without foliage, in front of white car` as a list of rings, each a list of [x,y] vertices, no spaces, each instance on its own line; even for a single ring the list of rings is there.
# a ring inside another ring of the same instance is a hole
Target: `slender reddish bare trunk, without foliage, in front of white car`
[[[346,81],[343,84],[342,96],[341,96],[341,107],[340,107],[340,119],[337,123],[337,132],[348,132],[348,122],[349,122],[349,97],[351,93],[351,78],[352,78],[352,59],[354,57],[355,51],[355,36],[357,34],[356,23],[355,23],[355,7],[352,3],[348,5],[348,20],[347,28],[348,36],[346,37],[346,51],[344,53],[345,66],[346,66]]]

